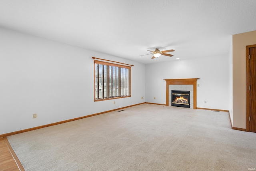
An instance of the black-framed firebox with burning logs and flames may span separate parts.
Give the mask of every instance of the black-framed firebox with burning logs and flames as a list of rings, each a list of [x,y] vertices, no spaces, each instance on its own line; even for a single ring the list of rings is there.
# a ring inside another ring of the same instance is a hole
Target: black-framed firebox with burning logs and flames
[[[172,106],[190,108],[190,91],[172,90]]]

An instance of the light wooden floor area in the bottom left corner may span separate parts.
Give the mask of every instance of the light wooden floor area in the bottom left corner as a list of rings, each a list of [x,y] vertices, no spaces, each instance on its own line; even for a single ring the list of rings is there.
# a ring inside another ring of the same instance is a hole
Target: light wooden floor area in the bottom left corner
[[[0,138],[0,171],[25,171],[6,137]]]

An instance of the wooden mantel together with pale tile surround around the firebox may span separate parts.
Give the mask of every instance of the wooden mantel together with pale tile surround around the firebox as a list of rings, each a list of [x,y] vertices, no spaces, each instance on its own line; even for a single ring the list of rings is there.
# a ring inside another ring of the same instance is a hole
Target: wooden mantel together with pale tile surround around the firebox
[[[172,99],[172,90],[186,90],[190,91],[190,108],[196,109],[196,81],[198,79],[164,79],[166,81],[166,105],[169,105]]]

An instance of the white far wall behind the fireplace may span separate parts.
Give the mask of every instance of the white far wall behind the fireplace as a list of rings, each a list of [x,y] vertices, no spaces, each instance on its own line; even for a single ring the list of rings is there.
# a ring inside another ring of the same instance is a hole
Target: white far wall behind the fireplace
[[[199,78],[197,107],[228,110],[228,66],[228,54],[146,64],[146,102],[166,104],[163,79]]]

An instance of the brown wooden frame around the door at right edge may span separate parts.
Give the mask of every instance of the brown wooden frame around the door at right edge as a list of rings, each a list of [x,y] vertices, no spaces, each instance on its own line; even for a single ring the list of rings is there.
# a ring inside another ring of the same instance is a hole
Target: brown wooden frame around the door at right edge
[[[246,46],[246,131],[250,132],[250,48],[256,48],[256,44]]]

